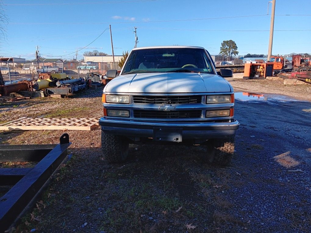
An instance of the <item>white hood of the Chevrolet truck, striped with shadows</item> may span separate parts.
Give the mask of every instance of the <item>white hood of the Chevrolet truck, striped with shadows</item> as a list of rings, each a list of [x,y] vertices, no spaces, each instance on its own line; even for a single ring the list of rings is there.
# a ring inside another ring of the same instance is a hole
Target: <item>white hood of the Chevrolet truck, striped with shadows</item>
[[[111,80],[104,92],[128,93],[205,93],[232,92],[223,77],[199,73],[139,73],[120,75]]]

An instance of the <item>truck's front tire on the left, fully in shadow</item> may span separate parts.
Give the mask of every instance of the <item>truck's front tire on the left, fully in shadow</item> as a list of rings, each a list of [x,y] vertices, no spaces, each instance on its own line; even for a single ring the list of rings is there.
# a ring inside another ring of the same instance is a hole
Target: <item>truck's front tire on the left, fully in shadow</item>
[[[104,158],[110,163],[123,162],[128,157],[129,143],[126,137],[101,131],[101,148]]]

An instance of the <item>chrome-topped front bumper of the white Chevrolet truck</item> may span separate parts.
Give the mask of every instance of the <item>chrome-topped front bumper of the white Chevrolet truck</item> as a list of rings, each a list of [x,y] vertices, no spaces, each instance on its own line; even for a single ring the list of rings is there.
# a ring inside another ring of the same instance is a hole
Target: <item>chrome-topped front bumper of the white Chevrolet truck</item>
[[[101,130],[107,134],[123,135],[127,137],[153,138],[154,131],[163,129],[168,132],[169,129],[179,129],[183,139],[214,139],[230,138],[235,135],[239,128],[239,122],[143,122],[114,120],[101,117],[99,120]]]

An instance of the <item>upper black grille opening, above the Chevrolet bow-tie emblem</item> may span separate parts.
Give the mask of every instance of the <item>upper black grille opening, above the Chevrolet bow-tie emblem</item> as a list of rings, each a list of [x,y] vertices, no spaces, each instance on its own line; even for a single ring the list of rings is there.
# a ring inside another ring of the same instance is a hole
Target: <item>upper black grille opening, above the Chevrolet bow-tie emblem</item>
[[[178,95],[178,96],[146,96],[146,95],[134,95],[134,103],[201,103],[201,95]]]

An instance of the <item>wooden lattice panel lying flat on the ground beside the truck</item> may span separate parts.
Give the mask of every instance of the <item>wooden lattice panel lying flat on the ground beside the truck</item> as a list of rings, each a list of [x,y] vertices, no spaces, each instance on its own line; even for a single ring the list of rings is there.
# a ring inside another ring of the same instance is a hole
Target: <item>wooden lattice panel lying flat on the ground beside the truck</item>
[[[92,130],[99,118],[26,118],[0,124],[0,130]]]

